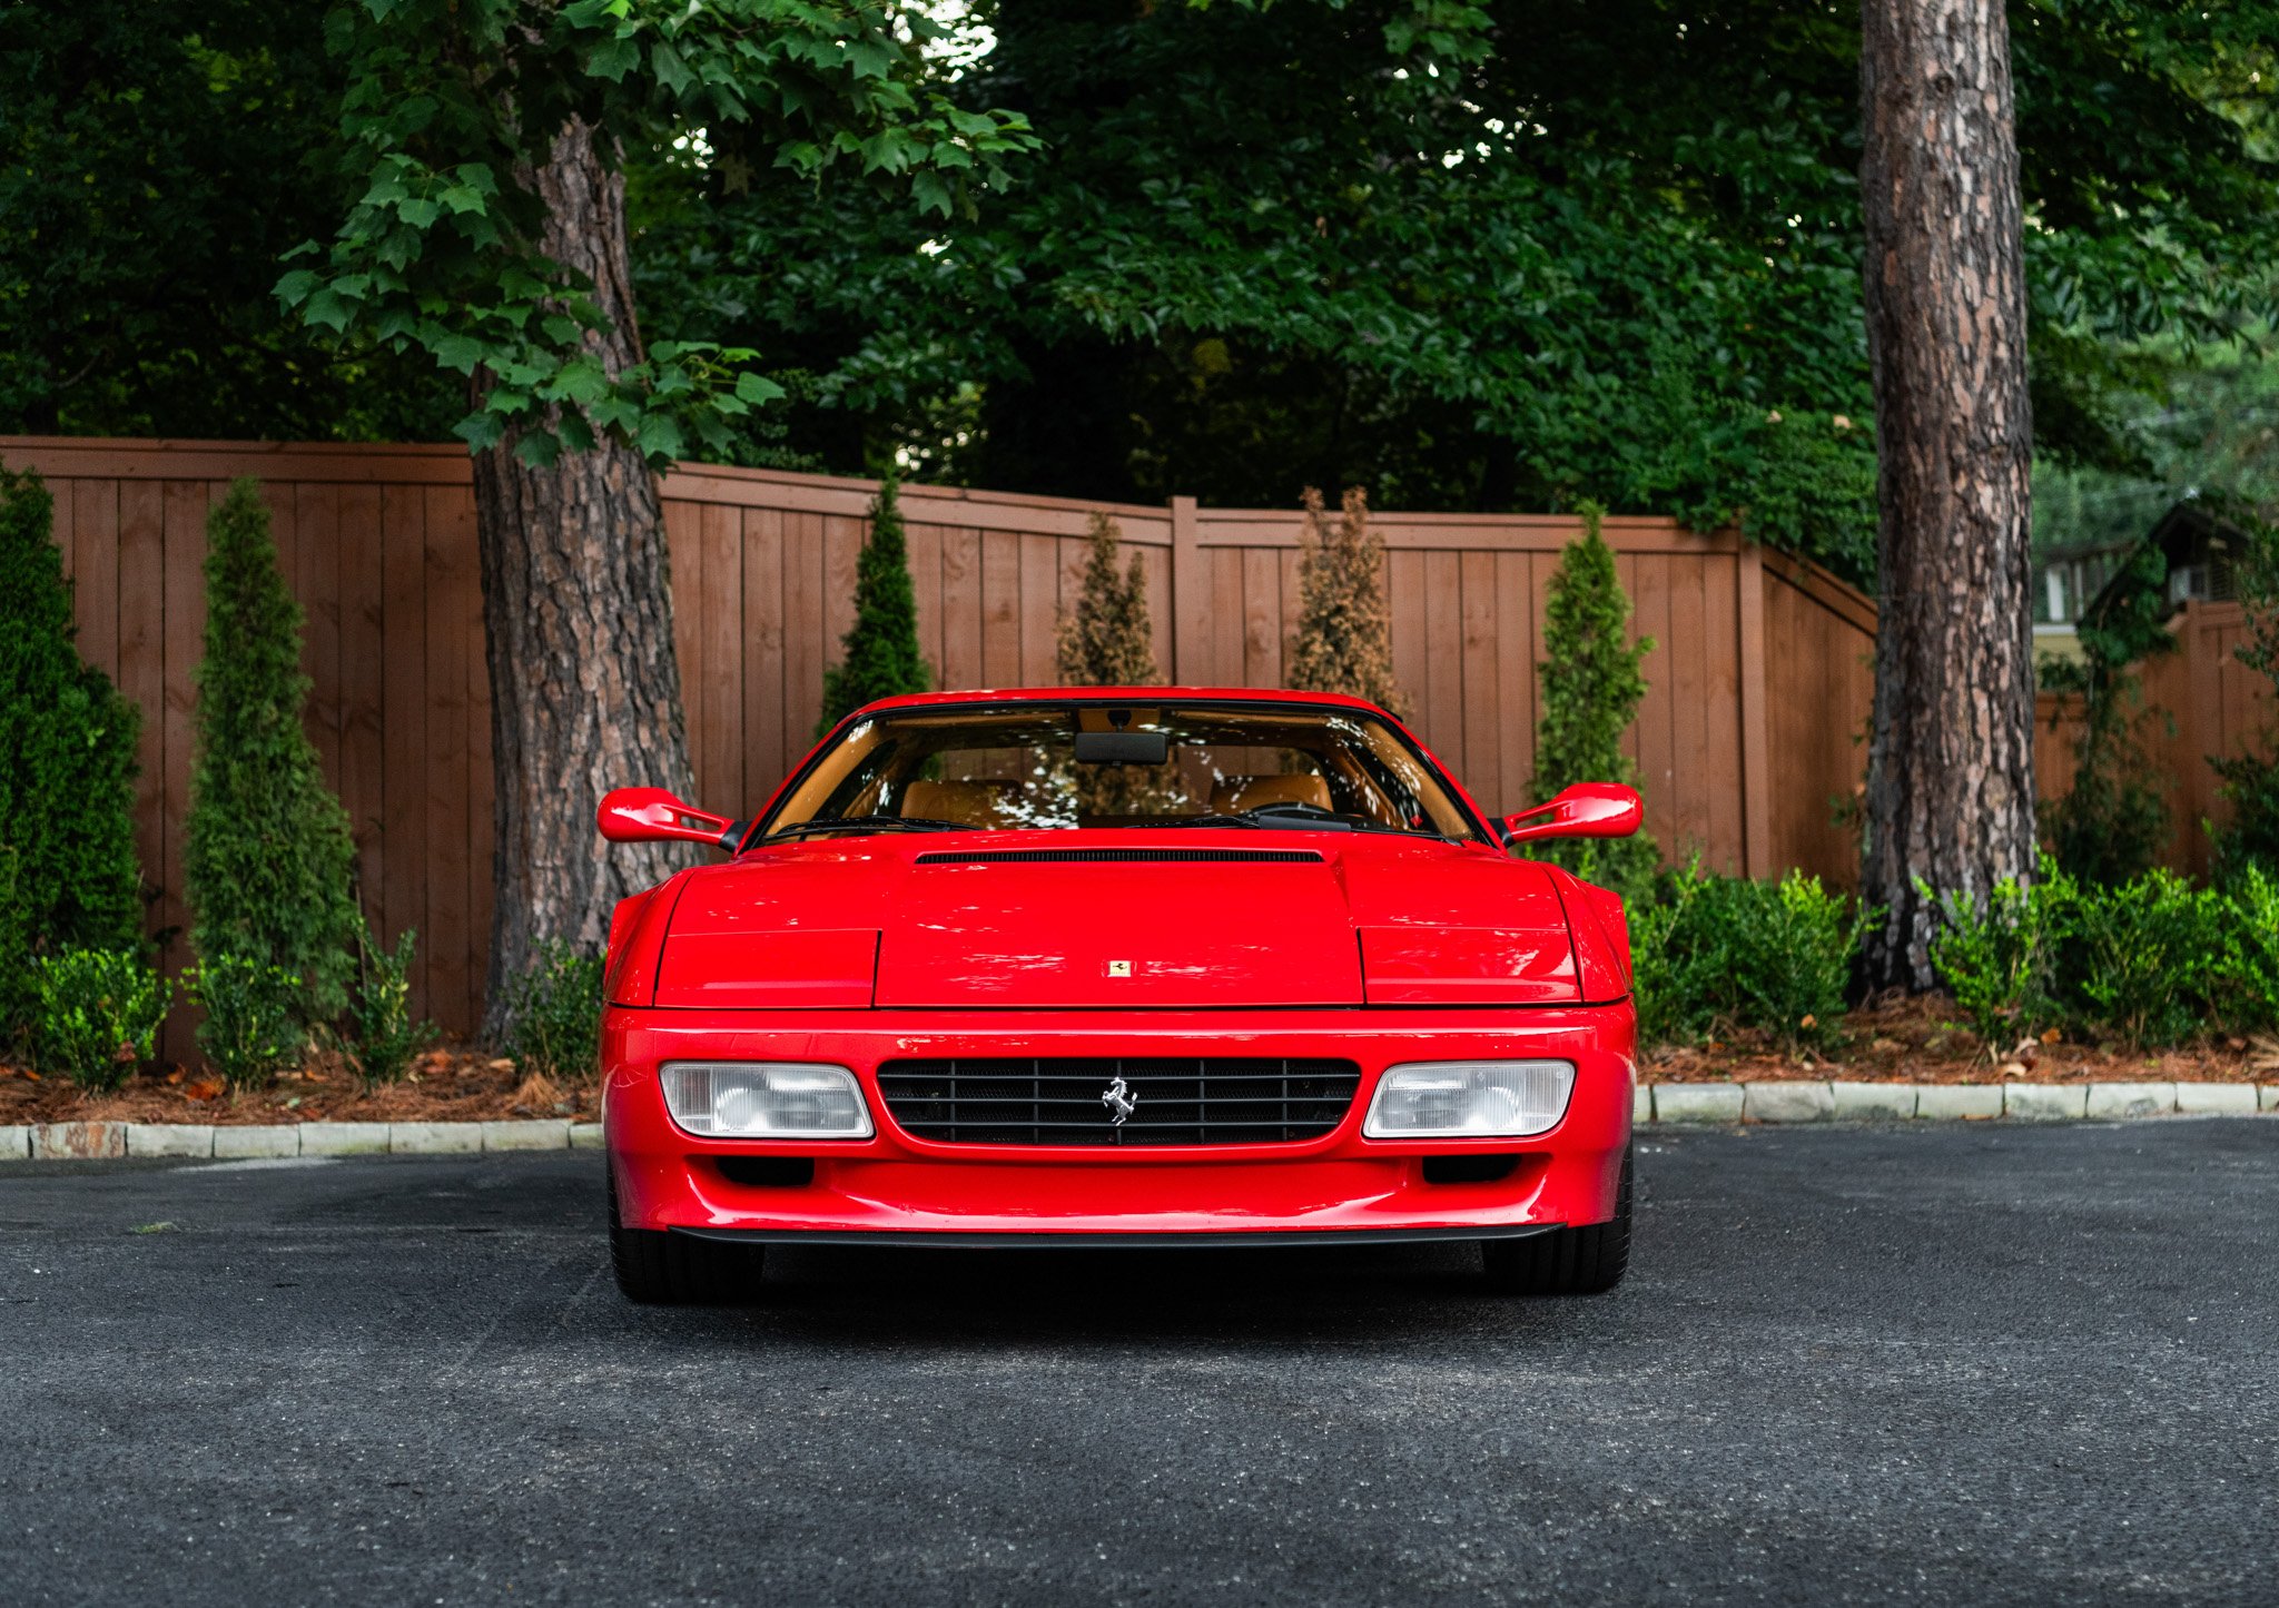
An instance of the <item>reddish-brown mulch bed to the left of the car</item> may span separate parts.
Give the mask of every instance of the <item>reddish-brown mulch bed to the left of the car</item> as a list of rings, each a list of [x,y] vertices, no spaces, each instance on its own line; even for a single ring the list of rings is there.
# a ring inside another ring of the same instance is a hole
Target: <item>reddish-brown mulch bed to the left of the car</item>
[[[114,1093],[80,1093],[71,1080],[0,1068],[0,1125],[14,1123],[479,1123],[517,1116],[602,1121],[597,1080],[554,1084],[513,1061],[463,1045],[428,1050],[403,1082],[365,1091],[340,1057],[283,1073],[267,1089],[230,1093],[187,1068],[130,1077]]]

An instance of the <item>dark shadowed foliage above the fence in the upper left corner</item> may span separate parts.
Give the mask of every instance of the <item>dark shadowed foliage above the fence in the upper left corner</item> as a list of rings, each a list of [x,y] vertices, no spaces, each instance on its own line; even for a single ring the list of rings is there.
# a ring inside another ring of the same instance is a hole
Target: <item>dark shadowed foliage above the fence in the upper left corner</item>
[[[342,71],[305,7],[0,7],[0,430],[408,440],[458,417],[417,367],[324,351],[278,255],[356,198]]]

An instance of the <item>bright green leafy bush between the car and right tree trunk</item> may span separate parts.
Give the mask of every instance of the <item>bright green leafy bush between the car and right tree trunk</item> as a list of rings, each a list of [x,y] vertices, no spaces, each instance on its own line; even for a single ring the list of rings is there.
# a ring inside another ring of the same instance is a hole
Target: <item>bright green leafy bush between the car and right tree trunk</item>
[[[1819,877],[1709,877],[1696,859],[1629,906],[1641,1041],[1753,1027],[1789,1050],[1841,1043],[1867,920]]]

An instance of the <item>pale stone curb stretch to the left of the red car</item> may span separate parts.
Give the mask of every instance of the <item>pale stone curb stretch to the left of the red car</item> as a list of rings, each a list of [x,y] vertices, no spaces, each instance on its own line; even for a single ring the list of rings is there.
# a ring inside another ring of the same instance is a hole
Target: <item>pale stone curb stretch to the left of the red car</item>
[[[0,1127],[0,1162],[178,1157],[239,1162],[289,1155],[483,1155],[597,1150],[599,1123],[32,1123]]]

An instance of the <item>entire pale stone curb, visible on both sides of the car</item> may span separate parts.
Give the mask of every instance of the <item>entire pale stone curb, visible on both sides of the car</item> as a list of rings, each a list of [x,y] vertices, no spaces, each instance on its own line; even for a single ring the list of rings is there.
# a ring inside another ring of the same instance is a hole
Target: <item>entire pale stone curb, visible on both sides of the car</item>
[[[2138,1116],[2279,1114],[2279,1084],[1639,1084],[1632,1123],[2110,1123]],[[499,1155],[597,1150],[599,1123],[32,1123],[0,1125],[0,1162],[296,1155]]]

